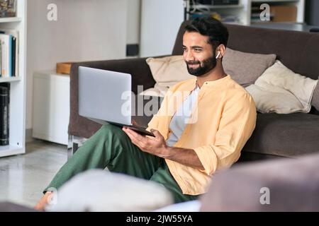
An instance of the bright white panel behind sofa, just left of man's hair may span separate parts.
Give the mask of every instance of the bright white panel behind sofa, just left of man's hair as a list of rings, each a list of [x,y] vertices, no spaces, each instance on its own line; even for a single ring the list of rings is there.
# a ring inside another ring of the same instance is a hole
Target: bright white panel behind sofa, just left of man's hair
[[[183,20],[183,0],[142,0],[140,56],[172,54]]]

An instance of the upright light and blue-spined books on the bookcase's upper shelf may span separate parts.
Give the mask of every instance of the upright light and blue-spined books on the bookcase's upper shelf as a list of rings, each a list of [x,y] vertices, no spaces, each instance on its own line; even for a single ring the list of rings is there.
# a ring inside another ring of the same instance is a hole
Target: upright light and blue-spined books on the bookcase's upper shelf
[[[18,31],[0,30],[0,77],[18,76]]]

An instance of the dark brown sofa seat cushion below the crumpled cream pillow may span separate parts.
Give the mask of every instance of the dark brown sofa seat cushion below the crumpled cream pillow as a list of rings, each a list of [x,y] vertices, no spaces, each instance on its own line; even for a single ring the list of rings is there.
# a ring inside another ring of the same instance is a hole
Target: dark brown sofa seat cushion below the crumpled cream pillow
[[[318,115],[257,114],[256,129],[242,151],[296,157],[318,152],[318,137]]]

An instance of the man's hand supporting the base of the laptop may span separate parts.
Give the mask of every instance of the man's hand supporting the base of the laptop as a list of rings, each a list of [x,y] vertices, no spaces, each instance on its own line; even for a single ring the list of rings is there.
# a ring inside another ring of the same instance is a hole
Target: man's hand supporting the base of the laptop
[[[126,127],[123,127],[123,131],[128,135],[130,141],[132,141],[133,144],[137,145],[140,150],[152,155],[157,155],[158,157],[166,157],[166,142],[162,134],[159,133],[159,131],[157,131],[156,129],[151,129],[151,132],[154,133],[155,138],[142,136]]]

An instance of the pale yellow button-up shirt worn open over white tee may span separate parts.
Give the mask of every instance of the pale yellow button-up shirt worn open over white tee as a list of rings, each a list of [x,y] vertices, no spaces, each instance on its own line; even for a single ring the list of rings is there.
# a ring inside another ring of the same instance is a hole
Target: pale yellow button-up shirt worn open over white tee
[[[148,129],[157,129],[167,140],[173,115],[195,87],[196,78],[192,78],[170,88]],[[204,170],[165,159],[183,194],[205,193],[213,173],[238,160],[255,124],[254,100],[230,76],[204,83],[191,119],[174,144],[174,147],[193,149]]]

